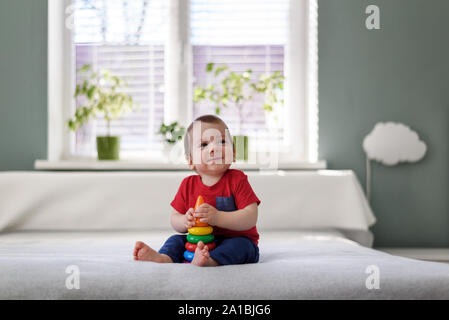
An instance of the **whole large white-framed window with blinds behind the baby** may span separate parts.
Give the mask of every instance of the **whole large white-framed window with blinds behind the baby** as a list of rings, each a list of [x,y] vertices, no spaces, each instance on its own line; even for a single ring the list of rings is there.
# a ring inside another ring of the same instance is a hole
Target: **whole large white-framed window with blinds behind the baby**
[[[58,29],[62,24],[67,28]],[[315,161],[316,51],[316,0],[49,0],[49,160],[95,158],[95,137],[105,133],[101,117],[76,134],[66,129],[82,65],[128,82],[140,108],[114,121],[112,131],[121,135],[121,157],[131,159],[160,153],[163,121],[188,125],[214,113],[192,95],[213,81],[205,68],[214,62],[251,69],[253,78],[282,72],[285,105],[275,132],[267,131],[260,96],[245,106],[241,128],[232,108],[220,116],[231,133],[262,147],[279,142],[281,161]]]

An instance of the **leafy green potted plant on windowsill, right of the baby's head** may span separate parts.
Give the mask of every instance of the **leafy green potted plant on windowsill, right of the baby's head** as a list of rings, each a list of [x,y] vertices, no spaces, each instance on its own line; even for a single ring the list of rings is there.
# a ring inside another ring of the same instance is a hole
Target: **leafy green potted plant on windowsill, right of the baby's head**
[[[253,80],[252,70],[242,73],[233,72],[226,64],[216,66],[208,63],[206,72],[213,73],[216,81],[208,87],[197,86],[194,89],[194,101],[208,100],[215,104],[215,113],[220,114],[222,107],[234,106],[238,114],[237,134],[233,136],[236,147],[236,159],[248,160],[248,136],[242,134],[245,104],[253,99],[255,94],[264,95],[263,110],[273,112],[283,100],[279,98],[279,91],[283,90],[284,77],[279,71],[261,75]]]

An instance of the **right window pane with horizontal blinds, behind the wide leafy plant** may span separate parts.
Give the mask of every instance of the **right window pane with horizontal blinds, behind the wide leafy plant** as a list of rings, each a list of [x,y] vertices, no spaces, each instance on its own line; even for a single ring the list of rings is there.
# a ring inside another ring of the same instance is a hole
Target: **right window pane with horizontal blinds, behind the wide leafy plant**
[[[251,69],[253,79],[275,71],[283,74],[288,9],[289,0],[191,0],[194,86],[217,84],[213,75],[206,72],[209,62],[227,64],[234,72]],[[263,100],[259,94],[245,104],[240,130],[235,108],[222,108],[219,116],[228,124],[231,134],[281,141],[282,117],[276,132],[269,133]],[[215,105],[210,102],[194,104],[194,117],[205,113],[214,114]]]

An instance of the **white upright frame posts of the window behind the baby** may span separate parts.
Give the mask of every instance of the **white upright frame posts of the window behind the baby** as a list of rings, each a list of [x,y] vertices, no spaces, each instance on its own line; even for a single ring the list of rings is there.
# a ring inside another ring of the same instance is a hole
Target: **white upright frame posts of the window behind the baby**
[[[169,19],[178,23],[168,28],[164,121],[178,120],[186,126],[193,120],[189,1],[168,1]],[[280,153],[280,165],[319,162],[317,6],[317,0],[290,0],[284,108],[286,141],[296,151]],[[74,107],[73,8],[72,0],[48,0],[49,162],[76,160],[70,150],[74,133],[66,126]]]

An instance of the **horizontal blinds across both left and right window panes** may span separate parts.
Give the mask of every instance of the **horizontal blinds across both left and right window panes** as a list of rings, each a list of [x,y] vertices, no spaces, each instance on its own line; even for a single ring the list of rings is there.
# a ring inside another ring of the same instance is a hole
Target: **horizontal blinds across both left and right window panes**
[[[164,50],[168,39],[167,0],[74,0],[76,67],[91,64],[123,77],[126,89],[140,105],[138,111],[113,121],[112,134],[121,135],[122,155],[140,156],[162,149],[155,133],[164,114]],[[289,0],[190,0],[190,42],[193,50],[193,83],[207,85],[208,62],[226,63],[233,71],[253,70],[253,78],[284,71]],[[81,81],[81,75],[76,75]],[[266,132],[263,97],[245,106],[244,132]],[[214,113],[215,106],[194,104],[193,116]],[[220,114],[231,133],[238,127],[237,113]],[[279,130],[270,138],[282,140]],[[104,120],[77,131],[73,153],[95,156],[95,137],[106,132]]]

